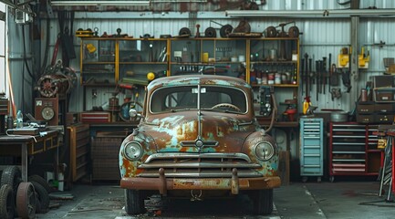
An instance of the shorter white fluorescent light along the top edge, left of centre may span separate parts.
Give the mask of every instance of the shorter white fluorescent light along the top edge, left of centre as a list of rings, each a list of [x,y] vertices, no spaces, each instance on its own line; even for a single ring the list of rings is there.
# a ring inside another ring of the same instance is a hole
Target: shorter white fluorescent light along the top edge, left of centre
[[[51,5],[53,6],[148,6],[150,5],[150,1],[56,1],[52,0]]]

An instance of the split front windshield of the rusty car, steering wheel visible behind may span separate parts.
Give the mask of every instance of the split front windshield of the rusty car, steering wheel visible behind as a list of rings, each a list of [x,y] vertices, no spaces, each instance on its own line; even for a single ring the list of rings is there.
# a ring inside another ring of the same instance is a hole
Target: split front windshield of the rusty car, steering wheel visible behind
[[[247,111],[246,95],[242,89],[221,86],[201,86],[200,101],[197,86],[161,88],[151,95],[151,113],[182,110],[215,110],[229,113]]]

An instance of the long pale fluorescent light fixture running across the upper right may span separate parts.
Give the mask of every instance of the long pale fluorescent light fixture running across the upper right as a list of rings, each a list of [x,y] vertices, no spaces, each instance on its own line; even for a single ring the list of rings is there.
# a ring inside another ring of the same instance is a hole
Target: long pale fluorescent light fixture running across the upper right
[[[271,11],[225,11],[231,17],[296,17],[296,18],[338,18],[350,16],[395,16],[395,9],[345,9],[345,10],[271,10]]]

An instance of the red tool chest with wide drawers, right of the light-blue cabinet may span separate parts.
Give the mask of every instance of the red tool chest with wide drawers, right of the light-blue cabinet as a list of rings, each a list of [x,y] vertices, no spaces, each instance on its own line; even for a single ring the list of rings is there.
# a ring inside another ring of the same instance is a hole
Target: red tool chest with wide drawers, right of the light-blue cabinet
[[[329,123],[329,180],[335,175],[375,175],[369,168],[379,162],[377,137],[373,132],[377,125],[356,122]],[[373,159],[372,159],[373,158]]]

